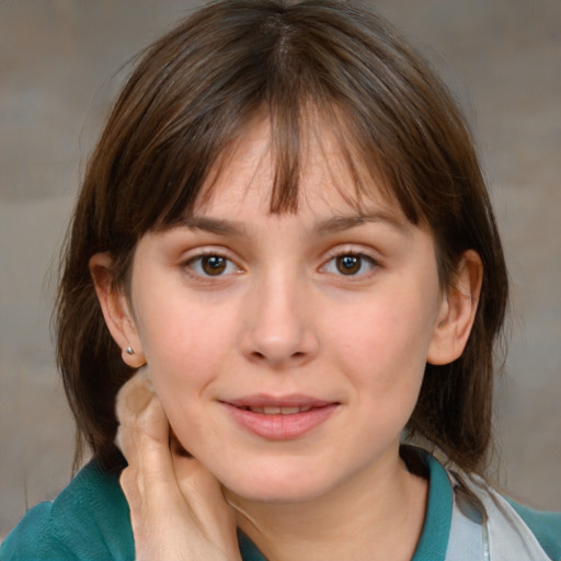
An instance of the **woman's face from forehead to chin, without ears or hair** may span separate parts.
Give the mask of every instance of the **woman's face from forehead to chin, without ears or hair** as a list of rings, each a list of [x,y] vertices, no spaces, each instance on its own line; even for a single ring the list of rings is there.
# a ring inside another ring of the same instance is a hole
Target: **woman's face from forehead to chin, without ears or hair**
[[[271,215],[268,140],[251,128],[194,217],[139,241],[130,302],[181,444],[234,494],[301,501],[396,465],[443,298],[430,233],[374,183],[348,204],[328,141]]]

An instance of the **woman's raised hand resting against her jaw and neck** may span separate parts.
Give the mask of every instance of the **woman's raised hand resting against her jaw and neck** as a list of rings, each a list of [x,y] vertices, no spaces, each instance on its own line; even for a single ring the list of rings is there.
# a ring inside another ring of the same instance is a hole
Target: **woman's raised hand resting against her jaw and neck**
[[[118,392],[117,417],[136,560],[241,561],[233,510],[198,460],[170,449],[168,419],[146,367]]]

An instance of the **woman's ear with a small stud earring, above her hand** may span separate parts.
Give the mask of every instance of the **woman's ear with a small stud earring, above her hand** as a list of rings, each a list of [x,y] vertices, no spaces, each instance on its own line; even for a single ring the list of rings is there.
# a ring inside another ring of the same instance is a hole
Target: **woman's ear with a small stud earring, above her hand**
[[[105,323],[122,350],[123,360],[133,368],[139,368],[146,364],[146,357],[127,297],[123,289],[114,286],[111,254],[95,253],[89,266]]]

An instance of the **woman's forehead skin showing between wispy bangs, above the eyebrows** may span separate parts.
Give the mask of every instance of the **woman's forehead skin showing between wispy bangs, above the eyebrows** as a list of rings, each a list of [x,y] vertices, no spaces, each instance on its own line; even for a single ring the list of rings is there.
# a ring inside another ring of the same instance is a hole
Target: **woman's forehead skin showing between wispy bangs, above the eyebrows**
[[[273,191],[287,188],[282,183],[275,185],[286,158],[275,149],[271,122],[255,119],[209,171],[193,215],[239,215],[250,208],[263,216],[376,211],[396,222],[407,222],[380,175],[353,152],[325,124],[309,124],[298,142],[297,190],[289,195],[295,201],[273,209]]]

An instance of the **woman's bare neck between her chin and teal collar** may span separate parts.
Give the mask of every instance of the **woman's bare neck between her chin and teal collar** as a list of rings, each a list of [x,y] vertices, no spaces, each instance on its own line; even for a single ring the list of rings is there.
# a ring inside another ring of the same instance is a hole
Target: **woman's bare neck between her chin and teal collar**
[[[309,501],[263,503],[228,493],[238,525],[270,561],[410,560],[421,537],[427,481],[394,454]]]

